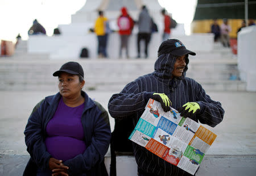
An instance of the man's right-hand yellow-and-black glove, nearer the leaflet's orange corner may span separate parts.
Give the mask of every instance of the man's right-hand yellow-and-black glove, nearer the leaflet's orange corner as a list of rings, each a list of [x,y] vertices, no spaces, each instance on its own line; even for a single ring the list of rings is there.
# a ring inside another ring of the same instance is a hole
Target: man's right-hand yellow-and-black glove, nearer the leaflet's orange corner
[[[184,118],[195,116],[199,110],[200,106],[196,102],[188,102],[178,109],[180,116]]]

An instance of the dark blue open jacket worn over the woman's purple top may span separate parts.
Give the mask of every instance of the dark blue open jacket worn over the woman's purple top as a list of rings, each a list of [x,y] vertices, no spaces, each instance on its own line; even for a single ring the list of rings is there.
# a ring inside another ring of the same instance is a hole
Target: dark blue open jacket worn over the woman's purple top
[[[69,175],[101,175],[100,164],[104,161],[111,138],[108,112],[100,103],[90,99],[84,91],[81,91],[81,94],[85,98],[81,121],[87,148],[83,154],[64,161],[64,165],[69,167]],[[36,105],[28,119],[24,135],[31,158],[23,175],[32,175],[30,173],[35,171],[35,166],[43,170],[49,169],[51,154],[47,152],[44,143],[47,136],[46,126],[55,114],[60,97],[60,93],[46,97]]]

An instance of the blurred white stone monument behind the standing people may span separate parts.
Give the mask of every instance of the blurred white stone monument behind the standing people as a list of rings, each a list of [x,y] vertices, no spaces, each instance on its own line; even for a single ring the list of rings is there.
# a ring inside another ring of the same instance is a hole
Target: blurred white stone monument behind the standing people
[[[89,32],[89,29],[94,27],[98,10],[104,11],[105,16],[110,21],[110,28],[117,30],[117,18],[121,14],[121,7],[127,7],[129,14],[136,21],[142,5],[146,5],[154,22],[158,24],[158,32],[152,33],[151,41],[148,45],[148,57],[155,59],[158,47],[162,42],[163,33],[163,16],[160,14],[162,7],[157,0],[87,0],[85,5],[76,14],[72,15],[71,24],[59,25],[61,35],[30,36],[28,39],[28,53],[48,54],[51,59],[65,58],[74,60],[79,58],[82,48],[87,48],[89,57],[97,58],[97,37],[95,33]],[[130,57],[137,56],[137,33],[138,28],[135,25],[129,39]],[[108,38],[108,56],[109,58],[118,58],[118,32],[110,33]],[[172,29],[171,38],[180,39],[186,46],[195,51],[210,51],[213,49],[212,35],[185,36],[184,24],[178,24],[175,29]],[[201,40],[207,42],[202,43]],[[141,51],[143,51],[143,46]]]

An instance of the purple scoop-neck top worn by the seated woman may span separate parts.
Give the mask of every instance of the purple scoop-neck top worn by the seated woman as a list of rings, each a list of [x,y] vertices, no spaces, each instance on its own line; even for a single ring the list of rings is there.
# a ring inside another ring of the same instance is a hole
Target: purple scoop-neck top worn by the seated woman
[[[46,126],[46,148],[53,158],[69,160],[86,149],[81,116],[84,103],[69,107],[60,99],[57,110]]]

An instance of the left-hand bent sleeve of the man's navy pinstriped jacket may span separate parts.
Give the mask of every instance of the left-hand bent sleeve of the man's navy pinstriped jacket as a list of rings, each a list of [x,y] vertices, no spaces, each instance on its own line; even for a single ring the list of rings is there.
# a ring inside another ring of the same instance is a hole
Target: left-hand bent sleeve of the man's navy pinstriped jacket
[[[130,82],[119,94],[114,94],[109,100],[109,114],[113,118],[120,118],[135,114],[137,111],[143,110],[152,98],[151,92],[139,92],[137,82]]]

